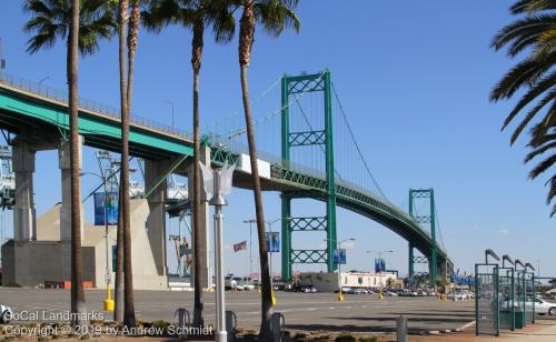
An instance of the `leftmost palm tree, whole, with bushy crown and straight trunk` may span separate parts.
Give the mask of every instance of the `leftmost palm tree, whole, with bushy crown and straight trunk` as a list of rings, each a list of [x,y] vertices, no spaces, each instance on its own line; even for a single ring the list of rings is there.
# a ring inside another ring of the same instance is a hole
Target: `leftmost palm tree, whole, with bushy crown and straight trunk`
[[[34,53],[51,48],[57,39],[67,43],[67,79],[70,114],[71,170],[71,312],[72,324],[82,325],[87,312],[81,255],[81,195],[79,183],[79,94],[78,58],[98,49],[101,38],[112,34],[112,14],[101,0],[28,0],[23,10],[31,16],[23,30],[36,33],[27,42],[27,51]]]

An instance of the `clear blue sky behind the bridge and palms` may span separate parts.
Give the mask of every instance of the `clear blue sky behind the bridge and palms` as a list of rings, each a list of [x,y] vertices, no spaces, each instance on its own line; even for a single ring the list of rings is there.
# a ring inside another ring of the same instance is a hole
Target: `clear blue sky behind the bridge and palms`
[[[492,37],[512,20],[512,1],[347,3],[302,1],[299,34],[286,32],[276,39],[257,31],[249,68],[252,98],[285,72],[328,68],[363,153],[387,197],[407,208],[409,188],[435,189],[444,244],[456,268],[469,272],[490,248],[534,264],[539,260],[542,273],[556,273],[550,262],[555,224],[544,203],[544,181],[527,179],[529,167],[522,163],[525,141],[510,148],[508,132],[500,133],[512,102],[488,101],[493,84],[514,63],[489,48]],[[43,84],[63,89],[63,43],[29,56],[21,7],[22,1],[2,3],[6,71],[34,81],[49,77]],[[190,131],[190,38],[172,27],[159,36],[141,32],[133,98],[137,114],[170,124],[170,107],[162,102],[170,100],[177,127]],[[103,42],[97,54],[80,63],[80,95],[118,107],[117,68],[117,41]],[[241,109],[237,38],[217,46],[206,37],[200,100],[203,123]],[[265,101],[279,108],[279,92]],[[86,153],[86,169],[97,171],[93,151]],[[52,151],[37,159],[39,213],[60,200],[60,183],[52,181],[59,179],[56,158]],[[83,192],[96,185],[93,181],[83,180]],[[265,200],[267,219],[278,218],[278,194],[268,193]],[[241,222],[254,215],[250,192],[235,190],[230,203],[225,211],[227,244],[248,239]],[[87,204],[88,218],[91,207]],[[321,208],[321,203],[301,202],[295,210]],[[176,229],[177,222],[170,222],[169,232]],[[374,255],[365,251],[387,249],[395,251],[387,258],[388,266],[407,272],[407,242],[379,224],[339,209],[338,237],[356,239],[347,269],[370,269]],[[296,241],[318,248],[319,239]],[[247,252],[228,249],[226,253],[227,269],[244,273]],[[278,255],[274,264],[278,269]]]

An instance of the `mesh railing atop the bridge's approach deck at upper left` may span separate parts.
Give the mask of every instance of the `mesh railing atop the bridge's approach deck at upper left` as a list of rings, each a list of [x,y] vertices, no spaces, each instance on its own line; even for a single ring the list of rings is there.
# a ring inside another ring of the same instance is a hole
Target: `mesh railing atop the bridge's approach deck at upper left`
[[[19,90],[31,92],[33,94],[37,94],[37,95],[40,95],[40,97],[43,97],[43,98],[47,98],[50,100],[60,101],[60,102],[64,102],[64,103],[69,102],[69,100],[68,100],[69,95],[68,95],[67,91],[51,88],[51,87],[48,87],[44,84],[40,84],[39,82],[26,80],[23,78],[8,74],[6,72],[0,72],[0,83],[9,86],[11,88],[16,88]],[[89,99],[85,99],[85,98],[79,98],[79,107],[81,109],[93,111],[93,112],[97,112],[97,113],[100,113],[100,114],[103,114],[107,117],[112,117],[112,118],[118,119],[118,120],[121,117],[120,109],[117,109],[117,108],[110,107],[110,105],[106,105],[103,103],[100,103],[100,102],[97,102],[93,100],[89,100]],[[133,124],[137,124],[137,125],[142,125],[142,127],[146,127],[149,129],[156,129],[158,131],[161,131],[161,132],[165,132],[168,134],[172,134],[172,135],[177,135],[177,137],[183,138],[183,139],[191,139],[191,135],[188,134],[186,131],[179,130],[177,128],[172,128],[171,125],[158,122],[158,121],[149,119],[149,118],[131,114],[130,120]]]

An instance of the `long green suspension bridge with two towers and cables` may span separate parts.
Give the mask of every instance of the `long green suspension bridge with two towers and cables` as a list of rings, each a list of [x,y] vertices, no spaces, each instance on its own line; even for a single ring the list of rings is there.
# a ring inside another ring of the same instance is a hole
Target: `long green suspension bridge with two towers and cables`
[[[270,97],[277,89],[281,98],[278,109],[276,99]],[[67,98],[64,92],[0,72],[0,128],[4,138],[9,141],[10,133],[32,131],[37,139],[64,139],[69,129]],[[265,191],[281,193],[281,217],[289,218],[281,222],[285,280],[291,278],[292,264],[326,264],[329,272],[336,270],[332,253],[337,207],[367,217],[407,240],[409,275],[415,272],[415,263],[427,263],[433,281],[453,270],[441,239],[437,240],[434,190],[410,190],[408,212],[386,199],[355,139],[330,72],[284,76],[254,99],[252,107],[254,112],[260,113],[255,118],[258,159],[268,167],[261,173],[261,185]],[[79,131],[85,144],[118,152],[119,111],[85,99],[80,99],[79,108]],[[237,163],[234,185],[250,189],[241,112],[221,118],[202,132],[210,132],[203,137],[203,144],[210,149],[212,164]],[[168,172],[179,173],[177,167],[192,153],[192,140],[187,133],[132,115],[131,155],[175,160]],[[302,199],[324,202],[322,214],[292,215],[292,207]],[[417,212],[416,203],[423,201],[428,202],[427,210]],[[326,248],[292,248],[299,234],[315,231],[322,232]],[[415,250],[421,255],[415,255]]]

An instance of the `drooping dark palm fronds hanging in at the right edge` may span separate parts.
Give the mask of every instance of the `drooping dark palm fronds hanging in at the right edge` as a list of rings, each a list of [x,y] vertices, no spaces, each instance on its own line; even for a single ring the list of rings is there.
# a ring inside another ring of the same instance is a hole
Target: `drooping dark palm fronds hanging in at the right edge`
[[[529,172],[529,178],[548,172],[556,161],[553,152],[556,148],[556,1],[554,0],[519,0],[512,8],[513,14],[522,16],[517,21],[506,26],[493,39],[493,48],[498,51],[508,47],[508,57],[516,58],[527,53],[525,58],[512,68],[495,86],[490,100],[508,100],[517,97],[514,109],[504,121],[503,130],[524,114],[514,130],[510,144],[514,144],[522,132],[533,124],[529,131],[528,147],[533,151],[525,158],[529,162],[540,155],[547,155]],[[549,185],[546,202],[549,205],[556,195],[556,175],[546,182]],[[556,204],[552,215],[556,213]]]

